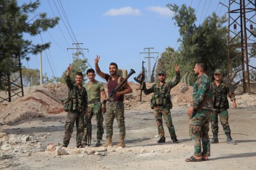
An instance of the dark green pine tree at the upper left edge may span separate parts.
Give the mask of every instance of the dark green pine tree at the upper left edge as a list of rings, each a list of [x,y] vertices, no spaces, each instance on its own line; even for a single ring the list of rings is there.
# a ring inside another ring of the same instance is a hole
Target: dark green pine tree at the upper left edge
[[[40,32],[53,28],[59,18],[47,18],[46,13],[34,14],[40,5],[39,1],[18,6],[16,0],[0,0],[0,77],[5,78],[19,69],[19,58],[27,58],[28,54],[38,54],[49,48],[50,42],[34,44],[23,37],[24,33],[35,36]],[[0,89],[6,86],[0,82]]]

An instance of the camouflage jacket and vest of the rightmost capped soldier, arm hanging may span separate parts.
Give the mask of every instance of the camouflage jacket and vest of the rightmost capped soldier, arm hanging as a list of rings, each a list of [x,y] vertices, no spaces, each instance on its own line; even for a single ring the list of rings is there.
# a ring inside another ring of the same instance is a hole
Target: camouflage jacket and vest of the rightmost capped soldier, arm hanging
[[[236,97],[234,96],[234,93],[232,90],[230,90],[228,84],[221,81],[220,84],[215,83],[215,81],[212,82],[213,86],[213,109],[218,111],[225,111],[226,109],[229,109],[229,101],[228,97],[231,101],[236,100]]]

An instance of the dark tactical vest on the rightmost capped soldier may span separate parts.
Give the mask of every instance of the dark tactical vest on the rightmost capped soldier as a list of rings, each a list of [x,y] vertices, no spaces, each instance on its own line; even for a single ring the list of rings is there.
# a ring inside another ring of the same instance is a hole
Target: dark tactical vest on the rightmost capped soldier
[[[225,83],[221,83],[220,86],[217,88],[213,88],[213,107],[217,110],[224,108],[224,103],[227,99],[228,91],[227,87],[228,85]],[[225,108],[226,109],[226,108]]]

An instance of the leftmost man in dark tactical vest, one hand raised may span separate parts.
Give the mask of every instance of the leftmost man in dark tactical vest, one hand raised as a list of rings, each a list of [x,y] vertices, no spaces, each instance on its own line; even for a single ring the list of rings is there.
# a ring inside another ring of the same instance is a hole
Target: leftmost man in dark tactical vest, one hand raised
[[[68,100],[64,101],[65,111],[68,111],[68,116],[65,121],[65,135],[63,138],[63,147],[68,147],[73,127],[76,122],[76,146],[82,147],[82,135],[84,134],[84,112],[87,106],[87,93],[82,87],[84,76],[81,72],[76,73],[75,84],[72,83],[69,75],[72,65],[68,66],[65,76],[65,82],[68,86]]]

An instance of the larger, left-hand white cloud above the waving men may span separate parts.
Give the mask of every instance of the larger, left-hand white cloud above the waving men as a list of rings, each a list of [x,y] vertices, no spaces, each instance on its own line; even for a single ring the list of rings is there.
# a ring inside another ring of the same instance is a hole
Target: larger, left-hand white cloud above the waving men
[[[106,16],[118,16],[118,15],[140,15],[141,11],[139,9],[134,9],[130,6],[122,7],[118,9],[110,9],[104,13]]]

